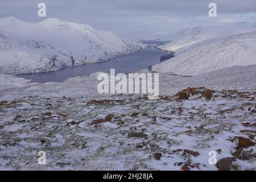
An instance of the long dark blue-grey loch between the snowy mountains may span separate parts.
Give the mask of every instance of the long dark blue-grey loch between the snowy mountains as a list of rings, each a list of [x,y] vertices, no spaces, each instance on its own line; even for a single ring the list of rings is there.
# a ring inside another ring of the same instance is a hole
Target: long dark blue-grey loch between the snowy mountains
[[[147,48],[142,49],[131,55],[117,57],[114,60],[105,61],[102,63],[85,64],[76,67],[68,67],[60,71],[46,72],[46,73],[29,73],[16,75],[18,77],[27,78],[37,82],[62,82],[67,78],[75,76],[88,76],[95,72],[110,73],[110,69],[115,68],[117,73],[131,73],[147,68],[150,65],[159,63],[160,57],[166,53],[156,49]]]

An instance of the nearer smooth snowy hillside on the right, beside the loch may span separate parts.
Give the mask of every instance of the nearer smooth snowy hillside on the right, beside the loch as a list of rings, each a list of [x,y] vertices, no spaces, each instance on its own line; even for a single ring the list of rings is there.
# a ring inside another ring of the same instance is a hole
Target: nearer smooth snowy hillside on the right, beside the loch
[[[212,39],[189,47],[176,57],[156,64],[152,71],[195,76],[233,66],[256,64],[256,32]]]

